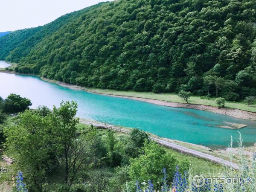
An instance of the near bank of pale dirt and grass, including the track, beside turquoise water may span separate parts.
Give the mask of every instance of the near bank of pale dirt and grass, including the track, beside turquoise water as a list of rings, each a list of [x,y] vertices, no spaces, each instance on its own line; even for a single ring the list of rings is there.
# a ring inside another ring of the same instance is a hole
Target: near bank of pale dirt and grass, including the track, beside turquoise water
[[[131,128],[124,128],[114,125],[108,125],[101,122],[90,121],[86,119],[80,119],[81,124],[93,125],[95,127],[109,129],[112,131],[116,131],[117,133],[129,134]],[[172,140],[167,138],[158,137],[157,135],[147,133],[151,140],[154,140],[160,145],[163,145],[167,148],[171,148],[175,151],[178,151],[182,154],[187,154],[190,156],[198,157],[201,159],[209,160],[214,163],[218,163],[225,166],[233,167],[234,169],[239,168],[239,155],[241,153],[250,160],[253,157],[254,151],[256,147],[247,147],[243,148],[241,151],[240,148],[225,148],[225,149],[217,149],[217,148],[209,148],[202,145],[187,143],[179,140]],[[230,162],[230,154],[232,154],[233,159]]]

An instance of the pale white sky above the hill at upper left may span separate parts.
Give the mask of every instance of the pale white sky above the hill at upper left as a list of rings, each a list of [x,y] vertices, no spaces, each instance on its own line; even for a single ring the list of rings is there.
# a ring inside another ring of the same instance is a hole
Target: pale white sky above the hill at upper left
[[[107,0],[1,0],[0,32],[41,26],[102,1]]]

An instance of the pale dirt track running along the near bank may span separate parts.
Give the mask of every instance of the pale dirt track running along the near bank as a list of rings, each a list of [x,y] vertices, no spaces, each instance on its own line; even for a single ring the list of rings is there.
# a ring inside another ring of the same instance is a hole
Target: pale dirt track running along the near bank
[[[83,120],[83,119],[80,119],[80,122],[84,123],[84,124],[87,124],[87,125],[93,125],[93,126],[96,126],[96,127],[111,129],[113,131],[119,131],[119,132],[126,133],[126,134],[128,134],[130,132],[130,130],[128,130],[128,129],[123,129],[123,128],[115,127],[113,125],[108,125],[108,124],[104,124],[104,123],[90,122],[90,121],[86,121],[86,120]],[[186,148],[184,146],[181,146],[181,145],[178,145],[176,143],[172,143],[170,141],[166,141],[166,140],[163,140],[163,139],[159,139],[157,137],[151,137],[150,136],[150,139],[154,140],[155,142],[159,143],[160,145],[164,145],[164,146],[172,148],[176,151],[180,151],[180,152],[185,153],[185,154],[189,154],[189,155],[192,155],[192,156],[195,156],[195,157],[200,157],[200,158],[203,158],[203,159],[206,159],[206,160],[210,160],[214,163],[218,163],[218,164],[222,164],[222,165],[225,165],[225,166],[232,167],[233,169],[239,169],[239,166],[236,163],[221,159],[219,157],[215,157],[215,156],[210,155],[210,154],[205,154],[205,153],[200,152],[200,151],[196,151],[196,150],[193,150],[193,149],[190,149],[190,148]]]

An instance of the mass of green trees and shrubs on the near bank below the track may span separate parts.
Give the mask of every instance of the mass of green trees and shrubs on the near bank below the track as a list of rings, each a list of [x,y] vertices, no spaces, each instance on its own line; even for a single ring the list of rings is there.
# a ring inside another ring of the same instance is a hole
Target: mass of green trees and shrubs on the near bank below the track
[[[11,124],[4,125],[5,153],[13,157],[15,163],[10,166],[9,175],[0,175],[1,182],[3,179],[12,180],[12,176],[22,170],[26,188],[35,192],[132,192],[140,179],[140,182],[148,183],[143,188],[148,190],[152,190],[152,186],[159,189],[163,183],[166,183],[163,184],[166,188],[171,187],[174,180],[182,181],[177,186],[186,183],[184,171],[189,166],[183,160],[187,158],[178,152],[174,157],[166,152],[166,148],[150,141],[145,132],[135,129],[124,135],[93,126],[78,126],[74,102],[62,102],[60,108],[54,107],[52,112],[46,110],[47,115],[38,112],[41,108],[19,113]],[[67,184],[64,182],[64,135],[67,136],[67,145],[70,145]],[[178,161],[180,157],[182,160]],[[182,176],[175,176],[176,165],[180,167],[179,172],[184,173]]]

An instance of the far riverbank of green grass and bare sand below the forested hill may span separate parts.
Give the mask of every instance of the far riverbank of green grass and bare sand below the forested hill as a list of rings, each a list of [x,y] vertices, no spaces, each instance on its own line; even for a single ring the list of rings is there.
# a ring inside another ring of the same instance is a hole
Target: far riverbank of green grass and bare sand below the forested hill
[[[15,71],[0,71],[0,72],[19,74],[19,73],[16,73]],[[214,106],[216,105],[214,100],[200,99],[199,97],[195,97],[195,96],[192,96],[191,99],[189,100],[191,104],[187,104],[187,103],[182,103],[181,99],[176,94],[173,94],[173,93],[156,94],[156,93],[143,93],[143,92],[135,92],[135,91],[102,90],[102,89],[96,89],[91,87],[81,87],[73,84],[67,84],[64,82],[50,80],[43,77],[40,77],[40,78],[44,81],[56,83],[62,87],[67,87],[74,90],[84,90],[90,93],[96,93],[100,95],[114,96],[114,97],[120,97],[125,99],[134,99],[142,102],[148,102],[155,105],[162,105],[162,106],[168,106],[173,108],[191,108],[191,109],[198,109],[203,111],[210,111],[210,112],[218,113],[222,115],[233,116],[239,119],[249,119],[249,120],[256,121],[255,105],[250,106],[249,107],[250,110],[246,110],[248,109],[248,106],[244,103],[227,102],[226,108],[218,108]],[[204,104],[198,104],[198,103],[204,103]]]

